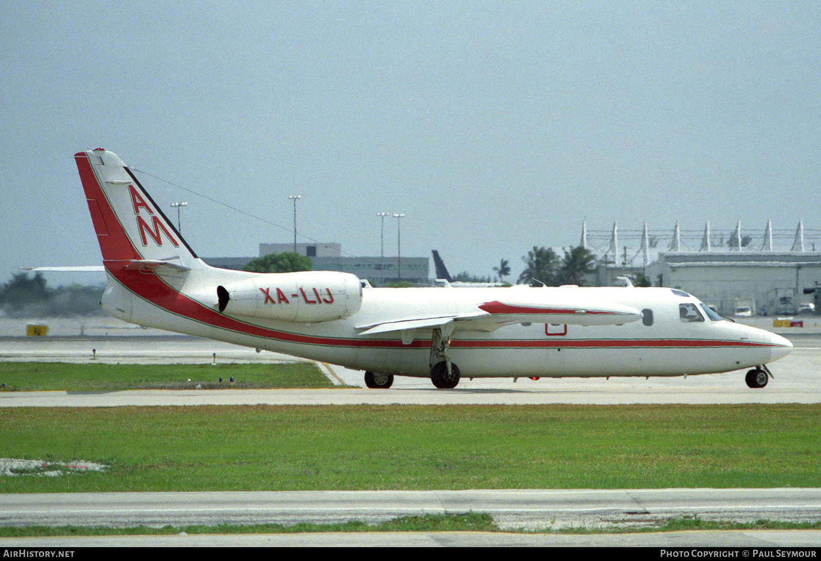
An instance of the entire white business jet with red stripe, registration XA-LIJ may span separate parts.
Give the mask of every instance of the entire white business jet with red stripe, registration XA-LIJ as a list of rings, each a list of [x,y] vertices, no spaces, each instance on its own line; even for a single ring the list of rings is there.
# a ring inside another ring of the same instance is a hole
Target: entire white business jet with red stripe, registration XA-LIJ
[[[116,154],[75,155],[114,317],[394,376],[686,376],[766,367],[779,335],[718,316],[666,288],[363,288],[337,271],[260,274],[209,267]]]

